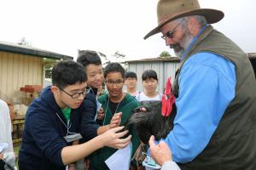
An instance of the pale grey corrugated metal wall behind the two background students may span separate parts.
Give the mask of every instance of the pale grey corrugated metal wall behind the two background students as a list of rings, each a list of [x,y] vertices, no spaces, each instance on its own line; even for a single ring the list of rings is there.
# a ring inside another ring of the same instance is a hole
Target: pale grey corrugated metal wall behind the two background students
[[[143,71],[154,70],[157,73],[159,82],[157,90],[163,92],[166,86],[167,77],[172,77],[172,82],[175,77],[175,71],[179,67],[178,62],[171,61],[147,61],[147,62],[137,62],[129,63],[128,71],[134,71],[137,73],[137,90],[143,91],[142,75]]]

